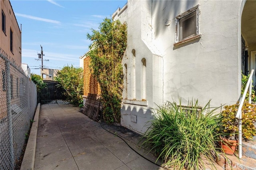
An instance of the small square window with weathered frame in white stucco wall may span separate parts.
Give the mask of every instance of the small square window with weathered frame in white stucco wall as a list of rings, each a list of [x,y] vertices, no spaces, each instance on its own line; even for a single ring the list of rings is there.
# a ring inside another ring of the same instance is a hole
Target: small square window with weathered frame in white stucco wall
[[[184,43],[192,39],[200,37],[199,35],[199,6],[195,6],[190,10],[176,17],[175,44]]]

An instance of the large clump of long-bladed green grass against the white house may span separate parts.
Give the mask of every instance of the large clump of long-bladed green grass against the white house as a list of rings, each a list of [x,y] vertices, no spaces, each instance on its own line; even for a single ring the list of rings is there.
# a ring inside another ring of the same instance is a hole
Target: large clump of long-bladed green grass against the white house
[[[174,169],[204,169],[202,160],[215,162],[219,134],[218,115],[210,101],[199,107],[198,101],[183,107],[176,102],[157,106],[155,118],[144,134],[143,145],[150,147],[165,166]]]

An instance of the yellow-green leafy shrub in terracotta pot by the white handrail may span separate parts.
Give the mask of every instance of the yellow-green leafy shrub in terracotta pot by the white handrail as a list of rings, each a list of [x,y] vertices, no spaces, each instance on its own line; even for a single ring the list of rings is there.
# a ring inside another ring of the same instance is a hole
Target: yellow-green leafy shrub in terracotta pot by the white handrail
[[[234,154],[238,145],[238,120],[235,118],[239,104],[224,106],[220,114],[218,131],[221,139],[219,145],[226,154]],[[245,102],[242,106],[242,138],[252,140],[256,135],[256,106]]]

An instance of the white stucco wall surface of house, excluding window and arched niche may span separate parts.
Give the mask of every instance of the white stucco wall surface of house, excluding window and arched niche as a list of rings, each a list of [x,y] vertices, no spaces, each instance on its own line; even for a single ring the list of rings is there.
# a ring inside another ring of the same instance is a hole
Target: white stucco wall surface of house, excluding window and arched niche
[[[201,37],[174,47],[176,16],[198,4]],[[238,100],[240,5],[240,0],[128,0],[122,18],[128,24],[128,46],[122,61],[131,72],[128,99],[141,100],[140,66],[145,58],[148,106],[124,104],[122,125],[143,133],[142,127],[152,114],[145,116],[140,109],[147,110],[166,100],[182,98],[187,104],[193,98],[204,105],[212,99],[212,107]],[[132,49],[136,50],[136,57],[132,57]],[[134,90],[136,94],[132,95]],[[131,123],[131,114],[137,115],[137,123]]]

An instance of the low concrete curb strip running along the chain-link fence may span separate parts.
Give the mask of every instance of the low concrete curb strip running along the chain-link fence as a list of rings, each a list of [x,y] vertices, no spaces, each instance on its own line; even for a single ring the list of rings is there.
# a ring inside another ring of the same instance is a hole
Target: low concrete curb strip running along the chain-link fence
[[[35,155],[36,155],[36,137],[38,129],[38,120],[40,112],[40,103],[37,105],[34,122],[32,123],[28,144],[22,160],[20,170],[34,170]]]

